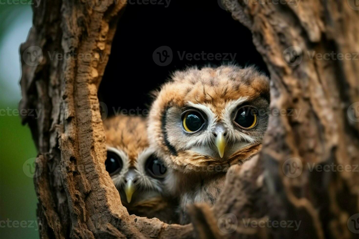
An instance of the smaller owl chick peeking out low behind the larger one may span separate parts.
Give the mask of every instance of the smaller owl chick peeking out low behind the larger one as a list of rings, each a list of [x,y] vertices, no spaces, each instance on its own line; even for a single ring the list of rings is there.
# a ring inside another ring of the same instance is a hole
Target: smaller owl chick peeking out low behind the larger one
[[[175,200],[163,190],[168,170],[149,147],[146,120],[116,116],[104,120],[107,144],[106,170],[130,214],[174,223]]]

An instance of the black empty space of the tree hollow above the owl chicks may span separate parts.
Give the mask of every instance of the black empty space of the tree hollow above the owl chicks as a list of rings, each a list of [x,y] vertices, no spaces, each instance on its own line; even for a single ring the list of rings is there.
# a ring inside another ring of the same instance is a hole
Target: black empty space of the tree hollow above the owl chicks
[[[149,92],[173,71],[188,66],[219,66],[233,59],[239,66],[255,64],[268,74],[250,30],[217,1],[139,2],[145,3],[130,0],[118,22],[99,87],[108,116],[127,114],[124,109],[145,115]]]

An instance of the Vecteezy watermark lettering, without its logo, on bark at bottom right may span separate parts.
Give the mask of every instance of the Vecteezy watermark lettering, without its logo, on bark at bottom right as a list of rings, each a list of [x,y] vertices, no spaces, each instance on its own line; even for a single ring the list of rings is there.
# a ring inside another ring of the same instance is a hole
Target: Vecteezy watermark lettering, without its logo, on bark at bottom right
[[[294,231],[299,229],[302,220],[270,220],[269,218],[266,219],[242,219],[243,225],[245,228],[294,228]]]

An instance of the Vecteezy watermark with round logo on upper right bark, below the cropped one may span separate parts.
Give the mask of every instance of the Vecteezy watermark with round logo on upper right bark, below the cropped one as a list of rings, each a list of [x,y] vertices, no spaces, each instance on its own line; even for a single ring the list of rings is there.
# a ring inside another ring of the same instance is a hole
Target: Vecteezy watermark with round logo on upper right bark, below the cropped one
[[[326,52],[319,53],[316,51],[306,51],[307,59],[313,61],[316,59],[318,61],[359,61],[359,53],[341,53],[341,52]],[[282,58],[283,61],[288,64],[288,66],[298,66],[304,57],[302,48],[298,46],[290,46],[283,51]]]

